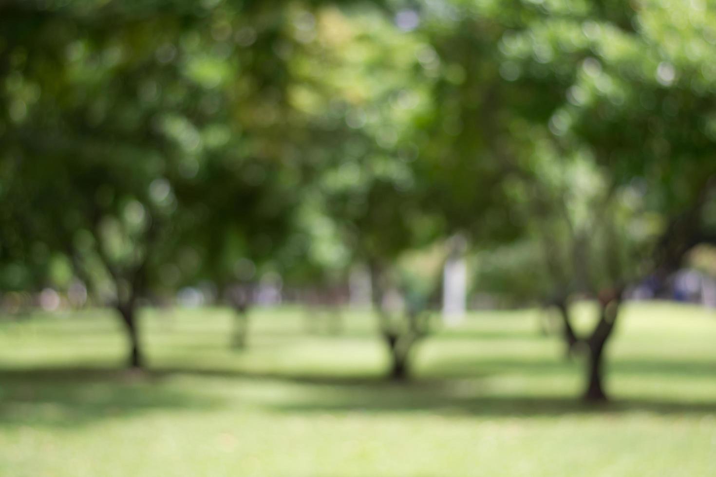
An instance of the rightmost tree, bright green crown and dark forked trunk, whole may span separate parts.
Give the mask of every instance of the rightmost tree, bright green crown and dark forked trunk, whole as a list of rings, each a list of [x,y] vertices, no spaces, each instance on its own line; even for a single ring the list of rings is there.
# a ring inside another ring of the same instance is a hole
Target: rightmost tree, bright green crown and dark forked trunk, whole
[[[698,6],[680,9],[671,1],[607,7],[590,2],[565,16],[565,4],[542,6],[541,13],[548,16],[538,15],[518,31],[505,34],[500,44],[503,68],[511,72],[506,79],[536,91],[557,92],[561,98],[543,104],[549,115],[543,125],[551,135],[551,155],[559,154],[563,161],[582,157],[593,164],[596,177],[603,177],[605,192],[586,210],[588,216],[606,219],[582,221],[599,227],[576,225],[569,218],[575,199],[589,202],[584,188],[553,202],[556,212],[566,211],[564,236],[569,240],[563,244],[566,255],[571,255],[569,267],[550,264],[563,283],[556,303],[568,343],[585,343],[589,352],[585,397],[592,400],[606,398],[601,386],[602,353],[624,290],[634,280],[679,262],[684,247],[674,242],[684,242],[679,237],[688,235],[685,230],[698,229],[695,224],[703,218],[709,180],[715,173],[710,159],[714,138],[707,126],[713,81],[705,60],[713,46],[696,33],[707,29],[710,14],[698,11]],[[688,43],[698,53],[677,46],[670,40],[674,35],[679,36],[679,45]],[[544,192],[539,190],[540,195]],[[656,226],[649,227],[652,233],[644,237],[646,244],[637,247],[655,255],[627,252],[632,250],[629,240],[639,235],[629,226],[631,220],[623,222],[624,209],[634,197],[644,214],[657,217]],[[674,223],[681,225],[674,227]],[[558,262],[554,257],[561,250],[554,249],[559,244],[550,241],[553,246],[547,256]],[[594,247],[603,251],[600,260],[586,258]],[[580,340],[571,329],[564,300],[594,280],[595,262],[609,280],[601,279],[602,285],[591,292],[599,298],[599,320],[594,333]]]

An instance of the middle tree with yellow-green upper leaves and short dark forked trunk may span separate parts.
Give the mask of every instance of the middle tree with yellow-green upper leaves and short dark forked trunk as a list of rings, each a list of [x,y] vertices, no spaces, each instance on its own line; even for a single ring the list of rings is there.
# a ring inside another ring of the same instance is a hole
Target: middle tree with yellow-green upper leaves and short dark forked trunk
[[[396,290],[402,287],[398,258],[434,235],[432,220],[420,210],[422,191],[415,184],[413,147],[405,136],[424,89],[412,77],[419,45],[374,9],[323,9],[316,24],[316,41],[308,44],[311,54],[296,65],[301,82],[294,90],[315,144],[307,149],[305,212],[319,230],[339,240],[321,240],[309,250],[314,258],[330,252],[340,264],[314,262],[328,265],[322,267],[321,280],[345,273],[351,264],[372,270],[374,309],[391,358],[390,375],[403,379],[413,345],[425,334],[424,313],[410,307],[389,310],[387,295],[401,294]],[[337,242],[343,245],[331,245]]]

